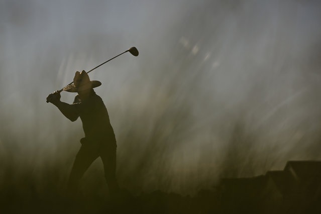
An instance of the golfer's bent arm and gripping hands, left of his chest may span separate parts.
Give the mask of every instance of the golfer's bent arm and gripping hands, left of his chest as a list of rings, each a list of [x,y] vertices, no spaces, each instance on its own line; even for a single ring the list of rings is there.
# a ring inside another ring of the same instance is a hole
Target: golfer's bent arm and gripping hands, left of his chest
[[[60,92],[55,91],[48,95],[47,100],[56,105],[60,112],[70,121],[76,121],[79,117],[76,106],[74,104],[68,104],[60,101],[60,97]]]

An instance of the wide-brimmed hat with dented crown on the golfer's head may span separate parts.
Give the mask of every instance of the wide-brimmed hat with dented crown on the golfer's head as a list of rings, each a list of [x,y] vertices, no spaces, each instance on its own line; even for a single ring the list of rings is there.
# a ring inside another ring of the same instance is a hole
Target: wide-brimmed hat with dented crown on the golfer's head
[[[97,80],[90,81],[88,74],[86,71],[76,71],[75,77],[73,78],[73,84],[67,85],[63,88],[64,91],[68,92],[78,92],[79,90],[87,90],[91,88],[95,88],[101,85],[101,82]]]

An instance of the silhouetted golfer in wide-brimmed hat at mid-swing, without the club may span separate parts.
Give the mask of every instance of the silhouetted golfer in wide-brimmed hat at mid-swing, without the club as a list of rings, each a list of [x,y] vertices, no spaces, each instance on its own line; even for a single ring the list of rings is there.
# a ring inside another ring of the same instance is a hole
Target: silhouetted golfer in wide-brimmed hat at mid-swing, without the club
[[[72,104],[60,101],[60,92],[55,91],[48,95],[47,101],[57,106],[60,112],[70,121],[80,117],[85,137],[80,140],[81,147],[73,163],[68,189],[75,193],[80,178],[91,165],[101,158],[104,175],[111,195],[119,191],[116,180],[116,138],[110,123],[107,109],[93,88],[101,85],[99,81],[90,81],[88,74],[83,70],[76,71],[74,84],[64,89],[77,92]]]

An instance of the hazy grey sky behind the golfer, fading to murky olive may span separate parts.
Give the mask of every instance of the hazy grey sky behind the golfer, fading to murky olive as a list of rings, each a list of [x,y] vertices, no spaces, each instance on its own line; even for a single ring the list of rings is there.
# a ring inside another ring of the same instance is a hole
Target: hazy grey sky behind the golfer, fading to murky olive
[[[46,96],[132,46],[138,57],[89,75],[102,82],[122,185],[190,192],[319,159],[320,11],[312,0],[1,0],[3,165],[64,163],[67,176],[81,121]]]

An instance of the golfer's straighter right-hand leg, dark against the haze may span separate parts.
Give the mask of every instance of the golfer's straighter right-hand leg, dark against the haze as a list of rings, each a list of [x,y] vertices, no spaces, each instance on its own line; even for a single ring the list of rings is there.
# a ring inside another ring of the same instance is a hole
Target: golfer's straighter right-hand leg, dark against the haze
[[[103,163],[105,179],[107,181],[111,195],[115,195],[119,191],[116,180],[116,148],[105,148],[99,152]]]

